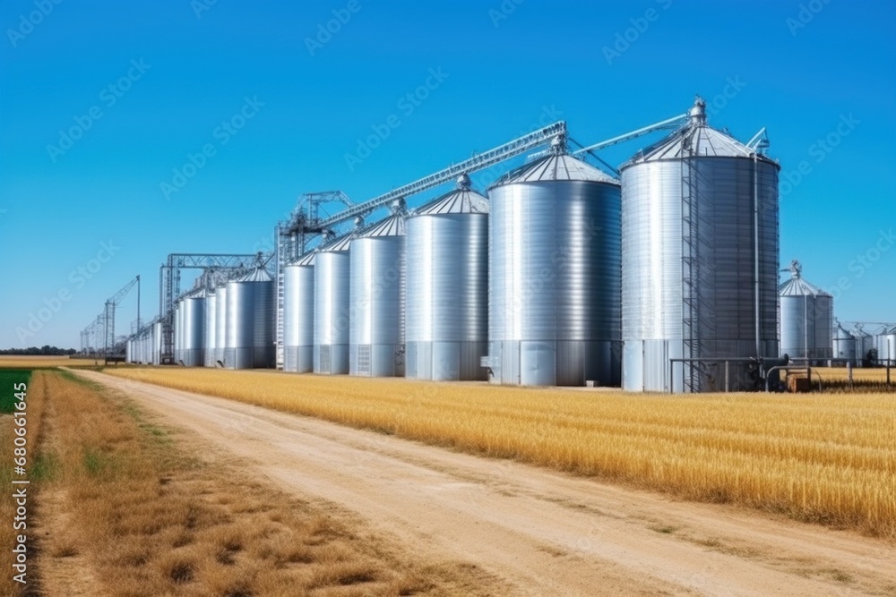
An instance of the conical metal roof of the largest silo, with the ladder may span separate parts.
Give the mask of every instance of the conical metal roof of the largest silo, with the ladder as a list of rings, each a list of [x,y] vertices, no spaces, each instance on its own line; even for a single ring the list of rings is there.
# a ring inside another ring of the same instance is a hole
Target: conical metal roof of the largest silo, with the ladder
[[[661,159],[677,158],[753,158],[754,149],[737,141],[728,132],[722,132],[706,124],[706,102],[697,98],[689,112],[685,126],[646,149],[640,150],[621,168]],[[777,166],[762,154],[759,159]]]

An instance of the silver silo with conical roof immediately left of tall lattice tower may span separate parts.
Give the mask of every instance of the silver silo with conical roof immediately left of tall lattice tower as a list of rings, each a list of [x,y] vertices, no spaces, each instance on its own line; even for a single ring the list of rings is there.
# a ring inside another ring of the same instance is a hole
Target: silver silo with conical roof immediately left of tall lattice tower
[[[274,366],[274,282],[263,268],[227,284],[224,366],[265,369]]]

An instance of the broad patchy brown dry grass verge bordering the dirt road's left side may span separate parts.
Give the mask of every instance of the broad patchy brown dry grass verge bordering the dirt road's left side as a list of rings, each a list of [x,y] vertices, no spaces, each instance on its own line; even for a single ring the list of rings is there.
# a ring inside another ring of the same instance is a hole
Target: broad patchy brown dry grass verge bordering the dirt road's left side
[[[42,379],[55,463],[39,519],[46,594],[446,594],[470,582],[185,444],[123,397],[60,373]]]

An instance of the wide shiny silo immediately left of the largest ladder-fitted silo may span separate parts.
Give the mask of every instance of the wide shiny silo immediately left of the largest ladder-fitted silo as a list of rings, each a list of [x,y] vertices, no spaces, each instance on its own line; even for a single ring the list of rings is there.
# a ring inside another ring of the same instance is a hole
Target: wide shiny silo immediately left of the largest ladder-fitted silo
[[[491,380],[617,386],[619,183],[556,143],[488,196]]]

